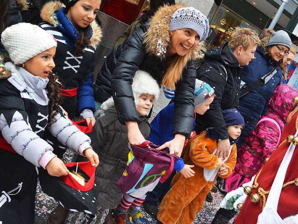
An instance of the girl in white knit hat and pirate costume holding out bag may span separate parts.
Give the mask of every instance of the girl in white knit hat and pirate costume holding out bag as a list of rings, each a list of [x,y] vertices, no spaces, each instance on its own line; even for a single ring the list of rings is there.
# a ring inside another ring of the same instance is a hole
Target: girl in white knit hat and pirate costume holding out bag
[[[93,166],[99,159],[90,138],[59,106],[60,82],[52,74],[55,38],[36,25],[19,23],[4,30],[1,42],[12,62],[0,73],[0,221],[34,223],[35,168],[56,177],[69,172],[43,139],[45,129]]]

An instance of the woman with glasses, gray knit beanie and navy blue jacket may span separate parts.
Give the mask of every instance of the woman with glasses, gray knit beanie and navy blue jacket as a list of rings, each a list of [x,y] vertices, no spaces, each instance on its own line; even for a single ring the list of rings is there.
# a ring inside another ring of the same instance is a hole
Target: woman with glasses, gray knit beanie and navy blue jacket
[[[239,110],[245,120],[245,128],[237,142],[237,148],[243,145],[245,138],[254,129],[260,116],[268,111],[268,102],[275,88],[280,84],[282,71],[279,68],[280,60],[289,53],[291,49],[291,39],[283,30],[272,34],[265,50],[258,46],[255,59],[245,68],[241,78],[241,84],[254,84],[258,79],[276,68],[270,76],[266,78],[265,85],[259,86],[239,99]],[[267,80],[269,80],[267,82]]]

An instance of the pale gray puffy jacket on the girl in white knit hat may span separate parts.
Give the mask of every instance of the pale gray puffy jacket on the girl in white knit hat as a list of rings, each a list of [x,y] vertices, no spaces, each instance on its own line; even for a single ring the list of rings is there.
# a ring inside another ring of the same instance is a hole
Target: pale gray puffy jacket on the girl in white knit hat
[[[15,67],[11,62],[7,62],[5,67],[12,70],[12,75],[8,79],[0,77],[1,134],[18,154],[39,167],[38,162],[41,157],[46,151],[53,151],[53,148],[40,137],[40,133],[32,130],[35,124],[30,124],[30,113],[38,113],[38,111],[30,110],[28,114],[24,106],[24,98],[34,100],[41,108],[47,107],[46,85],[48,79],[33,76],[24,68]],[[91,143],[90,138],[63,114],[58,113],[55,119],[56,121],[53,119],[52,123],[45,128],[49,128],[49,132],[69,149],[78,153],[82,144]],[[41,129],[44,131],[44,128],[41,127]]]

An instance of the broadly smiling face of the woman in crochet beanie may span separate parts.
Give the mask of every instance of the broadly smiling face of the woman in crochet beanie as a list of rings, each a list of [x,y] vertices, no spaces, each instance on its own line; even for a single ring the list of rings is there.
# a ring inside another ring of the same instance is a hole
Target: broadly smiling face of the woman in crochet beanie
[[[171,44],[168,48],[168,55],[186,55],[195,48],[200,41],[200,36],[193,29],[185,28],[171,32]]]

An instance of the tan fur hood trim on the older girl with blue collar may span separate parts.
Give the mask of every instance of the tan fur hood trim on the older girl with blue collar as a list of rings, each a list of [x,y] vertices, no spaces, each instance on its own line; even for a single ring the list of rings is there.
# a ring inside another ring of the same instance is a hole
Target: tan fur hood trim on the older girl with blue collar
[[[61,8],[65,7],[63,3],[60,1],[49,1],[41,9],[41,19],[43,19],[45,22],[57,26],[58,22],[54,16],[54,13]],[[94,20],[91,23],[91,27],[93,30],[92,36],[90,38],[90,45],[93,47],[96,47],[100,43],[100,39],[102,37],[102,31],[100,26],[97,24],[97,22]]]

